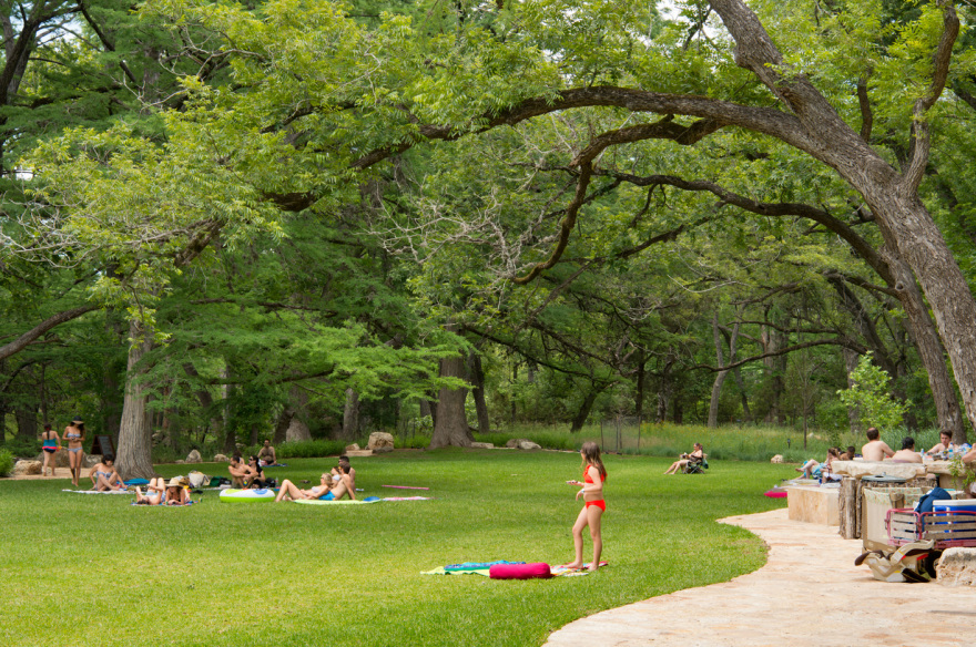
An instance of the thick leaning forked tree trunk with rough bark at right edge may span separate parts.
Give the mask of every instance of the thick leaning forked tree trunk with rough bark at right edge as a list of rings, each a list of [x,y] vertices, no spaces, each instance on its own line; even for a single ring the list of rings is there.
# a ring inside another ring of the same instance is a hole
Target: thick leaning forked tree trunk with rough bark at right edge
[[[756,123],[761,132],[806,152],[834,168],[865,199],[885,245],[911,268],[932,307],[969,427],[976,424],[976,299],[932,215],[918,197],[928,163],[927,112],[945,86],[959,21],[953,3],[942,3],[943,34],[933,57],[932,86],[915,100],[911,160],[903,173],[848,126],[810,79],[783,65],[782,54],[755,13],[741,0],[711,0],[711,6],[735,40],[735,62],[752,71],[786,106],[786,121]],[[767,115],[771,116],[771,115]],[[779,117],[776,117],[779,119]],[[912,289],[898,281],[896,289]],[[941,397],[941,396],[939,396]]]

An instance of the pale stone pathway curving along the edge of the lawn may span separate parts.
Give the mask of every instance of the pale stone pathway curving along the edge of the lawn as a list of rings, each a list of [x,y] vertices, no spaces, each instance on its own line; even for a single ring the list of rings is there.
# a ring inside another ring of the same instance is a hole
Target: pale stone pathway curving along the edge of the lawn
[[[547,645],[592,647],[958,646],[972,641],[976,587],[885,584],[854,566],[861,540],[790,521],[786,510],[720,520],[770,546],[749,575],[581,618]]]

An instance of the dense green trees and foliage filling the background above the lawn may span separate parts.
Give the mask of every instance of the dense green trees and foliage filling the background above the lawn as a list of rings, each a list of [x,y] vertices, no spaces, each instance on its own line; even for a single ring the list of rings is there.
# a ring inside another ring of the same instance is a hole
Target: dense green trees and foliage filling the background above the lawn
[[[871,352],[964,438],[968,6],[677,6],[9,7],[6,437],[835,428]]]

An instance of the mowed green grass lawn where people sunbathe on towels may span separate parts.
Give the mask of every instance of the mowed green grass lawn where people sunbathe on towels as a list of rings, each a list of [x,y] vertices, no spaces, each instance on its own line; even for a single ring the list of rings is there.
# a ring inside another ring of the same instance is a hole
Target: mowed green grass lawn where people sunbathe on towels
[[[315,483],[332,462],[268,472]],[[3,481],[0,644],[540,645],[576,618],[760,567],[762,542],[714,520],[783,506],[762,493],[795,474],[712,461],[703,476],[662,476],[670,460],[606,456],[608,568],[528,582],[420,574],[571,561],[581,504],[565,481],[581,476],[579,463],[575,453],[464,450],[354,459],[360,495],[436,497],[373,505],[231,505],[207,492],[187,509],[136,507],[129,496],[62,493],[68,481]],[[186,469],[159,466],[166,476]]]

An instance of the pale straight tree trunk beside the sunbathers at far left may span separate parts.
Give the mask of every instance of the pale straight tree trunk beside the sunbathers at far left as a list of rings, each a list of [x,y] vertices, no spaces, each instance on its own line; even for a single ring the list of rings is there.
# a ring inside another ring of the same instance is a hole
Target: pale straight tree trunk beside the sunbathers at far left
[[[152,479],[152,425],[146,410],[149,389],[141,383],[145,368],[140,360],[152,349],[153,335],[133,319],[129,324],[129,362],[125,371],[125,398],[122,403],[122,422],[119,429],[119,455],[115,468],[122,479]]]

